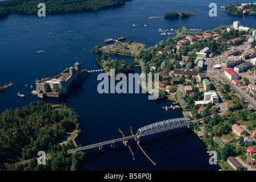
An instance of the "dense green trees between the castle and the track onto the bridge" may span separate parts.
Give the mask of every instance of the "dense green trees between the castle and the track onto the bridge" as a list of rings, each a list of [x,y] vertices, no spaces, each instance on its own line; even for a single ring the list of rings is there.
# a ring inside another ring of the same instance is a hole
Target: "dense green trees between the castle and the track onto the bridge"
[[[10,156],[31,159],[38,151],[53,150],[53,144],[74,129],[81,130],[79,115],[66,104],[53,106],[38,100],[6,109],[0,115],[0,166]]]

